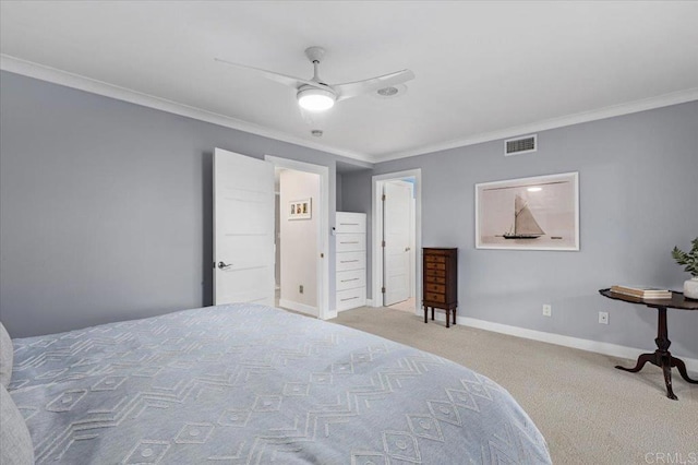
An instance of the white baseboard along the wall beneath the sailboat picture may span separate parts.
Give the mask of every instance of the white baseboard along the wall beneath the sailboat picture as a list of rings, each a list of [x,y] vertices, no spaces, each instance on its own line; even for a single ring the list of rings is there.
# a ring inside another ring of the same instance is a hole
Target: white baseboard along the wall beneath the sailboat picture
[[[446,321],[445,314],[436,314],[436,320]],[[477,327],[479,330],[492,331],[494,333],[508,334],[510,336],[524,337],[526,339],[540,341],[542,343],[556,344],[564,347],[573,347],[580,350],[593,351],[611,357],[627,358],[636,360],[640,354],[653,351],[653,349],[639,349],[636,347],[626,347],[618,344],[601,343],[599,341],[582,339],[579,337],[564,336],[562,334],[545,333],[543,331],[527,330],[526,327],[510,326],[508,324],[493,323],[491,321],[478,320],[468,317],[457,317],[457,324],[464,326]],[[684,360],[686,369],[698,373],[698,359],[682,357],[673,354]]]

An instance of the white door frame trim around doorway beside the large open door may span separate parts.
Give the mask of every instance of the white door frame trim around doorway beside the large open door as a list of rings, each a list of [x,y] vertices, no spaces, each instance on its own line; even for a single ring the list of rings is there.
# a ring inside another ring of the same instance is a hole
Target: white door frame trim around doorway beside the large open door
[[[317,253],[315,254],[317,318],[321,320],[335,318],[337,312],[329,310],[329,168],[273,155],[264,155],[264,159],[274,165],[275,168],[320,175],[320,220],[317,222]],[[315,205],[313,205],[313,208],[315,208]],[[321,258],[321,255],[324,255],[324,258]]]

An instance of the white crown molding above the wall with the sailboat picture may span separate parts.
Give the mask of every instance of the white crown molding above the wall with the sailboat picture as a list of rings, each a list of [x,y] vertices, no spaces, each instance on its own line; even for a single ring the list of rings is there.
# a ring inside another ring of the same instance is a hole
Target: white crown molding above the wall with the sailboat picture
[[[617,116],[651,110],[654,108],[669,107],[672,105],[685,104],[687,102],[694,100],[698,100],[698,87],[673,92],[671,94],[663,94],[655,97],[643,98],[641,100],[629,102],[627,104],[618,104],[599,108],[595,110],[582,111],[579,114],[568,115],[559,118],[552,118],[530,124],[516,126],[498,131],[485,132],[470,138],[456,139],[448,142],[424,145],[418,148],[394,152],[383,156],[374,156],[373,163],[389,162],[416,155],[425,155],[434,152],[481,144],[483,142],[497,141],[517,135],[530,134],[538,131],[546,131],[550,129],[563,128],[566,126],[579,124],[582,122],[597,121],[600,119],[613,118]]]

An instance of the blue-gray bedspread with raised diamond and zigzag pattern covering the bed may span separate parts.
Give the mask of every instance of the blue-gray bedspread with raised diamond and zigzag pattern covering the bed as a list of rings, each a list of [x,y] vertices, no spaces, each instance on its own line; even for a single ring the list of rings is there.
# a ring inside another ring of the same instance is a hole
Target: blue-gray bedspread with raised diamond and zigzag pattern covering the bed
[[[239,303],[13,341],[36,463],[550,463],[498,384],[357,330]]]

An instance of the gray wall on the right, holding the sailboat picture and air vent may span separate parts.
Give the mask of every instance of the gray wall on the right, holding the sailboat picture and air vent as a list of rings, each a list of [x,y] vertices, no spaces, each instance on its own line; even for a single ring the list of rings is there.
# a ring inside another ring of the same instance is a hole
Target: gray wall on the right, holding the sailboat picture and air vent
[[[344,176],[342,204],[370,214],[372,175],[421,168],[422,243],[459,248],[459,315],[653,350],[657,312],[597,290],[681,290],[689,277],[670,251],[698,236],[698,103],[543,131],[538,142],[512,157],[496,141],[377,164]],[[476,183],[567,171],[579,171],[579,252],[474,249]],[[698,358],[695,313],[670,311],[673,353]]]

